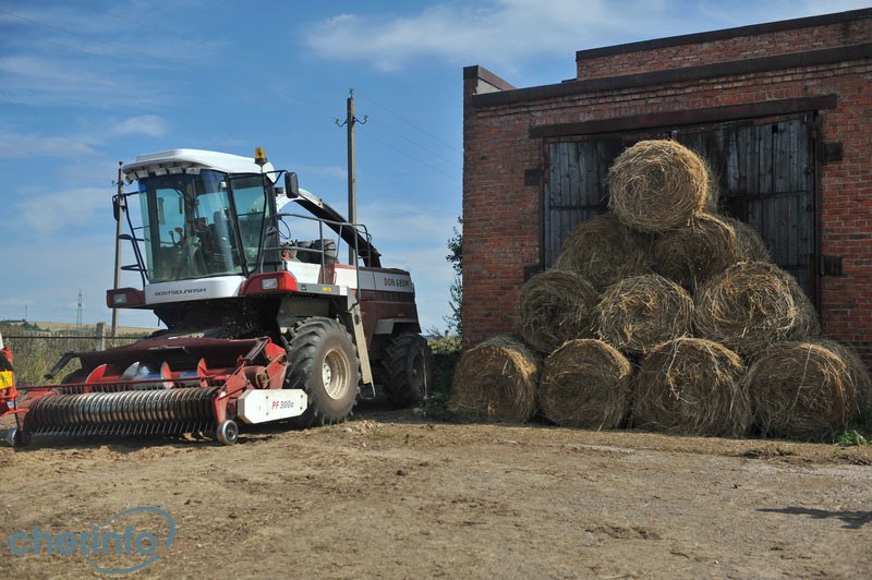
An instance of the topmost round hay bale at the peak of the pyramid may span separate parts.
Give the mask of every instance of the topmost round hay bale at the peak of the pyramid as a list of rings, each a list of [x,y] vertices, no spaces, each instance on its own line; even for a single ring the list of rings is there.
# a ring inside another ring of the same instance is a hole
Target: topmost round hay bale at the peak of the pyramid
[[[640,141],[608,170],[609,207],[627,227],[670,230],[702,212],[708,171],[692,150],[674,141]]]

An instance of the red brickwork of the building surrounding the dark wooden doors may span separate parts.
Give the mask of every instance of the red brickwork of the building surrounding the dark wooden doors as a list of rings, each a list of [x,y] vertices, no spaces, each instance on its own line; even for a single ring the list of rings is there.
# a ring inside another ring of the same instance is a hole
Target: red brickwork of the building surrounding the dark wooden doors
[[[872,14],[846,25],[808,26],[719,41],[734,58],[759,47],[826,47],[872,40]],[[864,38],[861,36],[864,35]],[[703,43],[703,47],[711,43]],[[682,53],[701,47],[687,45]],[[768,56],[772,52],[766,52]],[[714,58],[724,51],[714,50]],[[650,72],[634,52],[617,53],[603,70]],[[606,62],[606,60],[608,62]],[[669,64],[671,65],[671,64]],[[633,69],[633,68],[637,69]],[[821,252],[841,256],[840,277],[821,278],[825,333],[853,343],[872,363],[872,59],[682,81],[633,88],[591,88],[565,96],[508,90],[518,98],[489,104],[476,99],[477,67],[464,71],[463,331],[468,346],[511,331],[524,268],[540,262],[542,186],[524,185],[524,171],[545,171],[545,141],[530,136],[536,125],[688,111],[788,98],[837,96],[837,107],[820,111],[820,141],[840,142],[844,157],[820,165]],[[558,85],[554,85],[557,87]],[[493,88],[493,85],[488,85]]]

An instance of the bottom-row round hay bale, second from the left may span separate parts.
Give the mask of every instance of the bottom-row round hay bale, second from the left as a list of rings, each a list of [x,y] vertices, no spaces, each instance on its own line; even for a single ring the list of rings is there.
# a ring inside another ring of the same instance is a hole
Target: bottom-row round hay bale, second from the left
[[[545,360],[542,413],[558,425],[616,428],[627,416],[632,365],[602,340],[570,340]]]

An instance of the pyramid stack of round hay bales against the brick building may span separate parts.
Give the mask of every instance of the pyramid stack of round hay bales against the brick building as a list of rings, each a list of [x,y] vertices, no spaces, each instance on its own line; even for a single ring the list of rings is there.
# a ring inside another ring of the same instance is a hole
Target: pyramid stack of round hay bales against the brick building
[[[456,411],[734,437],[808,436],[858,421],[872,402],[864,365],[815,338],[813,305],[770,263],[760,234],[714,213],[699,156],[640,142],[615,160],[608,183],[609,212],[576,228],[554,269],[522,289],[512,347],[501,338],[489,366],[487,343],[464,354]],[[519,358],[535,363],[519,373]],[[534,407],[497,412],[512,406],[491,400],[512,397]]]

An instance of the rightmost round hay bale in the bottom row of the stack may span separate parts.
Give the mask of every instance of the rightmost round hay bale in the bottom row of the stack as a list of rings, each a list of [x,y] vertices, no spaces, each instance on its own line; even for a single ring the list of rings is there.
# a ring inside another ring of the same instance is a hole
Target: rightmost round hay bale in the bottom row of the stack
[[[764,436],[809,437],[859,423],[870,397],[865,365],[833,340],[773,345],[744,378]]]

